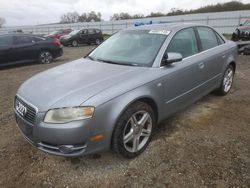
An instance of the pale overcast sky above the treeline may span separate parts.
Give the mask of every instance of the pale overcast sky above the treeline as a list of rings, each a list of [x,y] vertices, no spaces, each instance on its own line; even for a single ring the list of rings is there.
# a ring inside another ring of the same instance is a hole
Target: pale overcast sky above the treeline
[[[0,0],[0,17],[5,26],[37,25],[57,23],[67,12],[96,11],[102,19],[109,20],[114,13],[150,14],[167,13],[171,8],[196,9],[201,6],[224,3],[231,0]],[[249,3],[250,0],[241,0]]]

